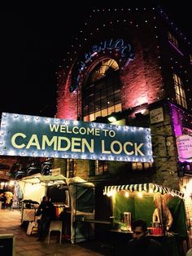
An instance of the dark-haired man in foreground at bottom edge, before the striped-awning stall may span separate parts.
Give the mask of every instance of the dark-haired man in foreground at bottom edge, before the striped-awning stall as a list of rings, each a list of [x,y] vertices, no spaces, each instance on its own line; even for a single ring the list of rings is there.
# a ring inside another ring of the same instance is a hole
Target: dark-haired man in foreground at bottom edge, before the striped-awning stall
[[[138,219],[132,224],[133,239],[128,242],[129,256],[162,256],[165,255],[162,245],[147,236],[146,222]]]

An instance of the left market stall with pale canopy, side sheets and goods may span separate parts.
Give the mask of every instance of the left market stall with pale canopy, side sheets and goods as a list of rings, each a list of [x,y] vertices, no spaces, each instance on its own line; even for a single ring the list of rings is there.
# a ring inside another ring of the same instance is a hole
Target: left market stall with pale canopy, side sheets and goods
[[[87,228],[79,224],[78,219],[85,216],[94,218],[93,183],[88,183],[80,177],[67,179],[62,174],[57,176],[35,174],[21,179],[19,185],[23,193],[23,203],[28,201],[40,203],[43,196],[49,196],[55,205],[58,218],[63,207],[67,209],[68,225],[65,234],[67,232],[67,235],[71,236],[72,243],[85,241]],[[21,222],[36,221],[37,207],[38,205],[34,204],[29,208],[22,206]]]

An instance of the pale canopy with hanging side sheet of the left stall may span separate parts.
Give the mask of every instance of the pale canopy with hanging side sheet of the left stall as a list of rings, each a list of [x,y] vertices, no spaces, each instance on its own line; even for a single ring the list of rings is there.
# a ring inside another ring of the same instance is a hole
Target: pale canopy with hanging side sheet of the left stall
[[[89,183],[80,177],[68,179],[62,174],[57,176],[34,174],[21,179],[19,185],[24,194],[24,201],[37,202],[41,202],[47,188],[55,185],[66,186],[71,199],[71,241],[72,243],[85,241],[88,236],[87,228],[75,221],[83,216],[94,218],[94,183]]]

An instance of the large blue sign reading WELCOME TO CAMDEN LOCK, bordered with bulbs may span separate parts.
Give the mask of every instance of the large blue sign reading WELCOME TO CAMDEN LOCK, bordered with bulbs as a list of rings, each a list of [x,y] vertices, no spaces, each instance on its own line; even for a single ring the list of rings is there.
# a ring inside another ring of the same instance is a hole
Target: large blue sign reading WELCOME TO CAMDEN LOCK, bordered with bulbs
[[[151,162],[151,130],[2,113],[0,155]]]

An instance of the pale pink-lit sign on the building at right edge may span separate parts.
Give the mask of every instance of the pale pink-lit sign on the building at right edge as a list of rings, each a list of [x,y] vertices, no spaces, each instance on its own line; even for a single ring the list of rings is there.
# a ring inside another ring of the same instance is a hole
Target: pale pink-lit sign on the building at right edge
[[[179,161],[192,161],[192,135],[181,135],[177,137],[177,151]]]

